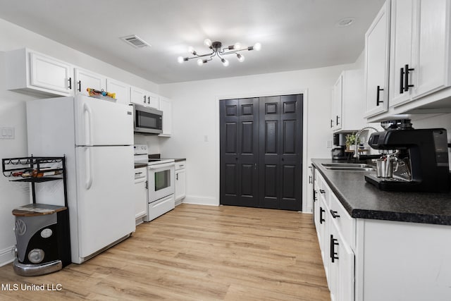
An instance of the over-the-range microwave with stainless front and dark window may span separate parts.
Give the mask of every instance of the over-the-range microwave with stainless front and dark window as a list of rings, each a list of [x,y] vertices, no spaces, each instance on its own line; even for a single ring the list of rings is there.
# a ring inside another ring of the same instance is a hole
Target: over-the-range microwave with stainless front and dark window
[[[163,133],[163,112],[147,106],[133,105],[135,133]]]

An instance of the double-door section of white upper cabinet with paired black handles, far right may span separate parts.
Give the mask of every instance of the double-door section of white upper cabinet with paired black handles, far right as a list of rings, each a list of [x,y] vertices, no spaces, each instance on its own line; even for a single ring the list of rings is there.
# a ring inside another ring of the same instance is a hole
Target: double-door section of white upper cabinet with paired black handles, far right
[[[390,106],[450,85],[450,1],[392,1]]]

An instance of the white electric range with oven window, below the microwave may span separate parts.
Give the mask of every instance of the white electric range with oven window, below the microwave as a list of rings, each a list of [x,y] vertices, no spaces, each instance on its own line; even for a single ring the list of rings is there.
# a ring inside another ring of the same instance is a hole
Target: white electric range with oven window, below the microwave
[[[143,220],[152,221],[175,208],[175,162],[174,159],[149,159],[147,145],[135,145],[135,162],[147,163],[149,197]]]

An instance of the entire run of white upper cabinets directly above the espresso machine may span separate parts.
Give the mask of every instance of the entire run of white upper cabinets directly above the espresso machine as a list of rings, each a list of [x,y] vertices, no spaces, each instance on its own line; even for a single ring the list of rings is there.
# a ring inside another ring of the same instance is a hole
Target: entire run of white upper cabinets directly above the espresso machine
[[[450,111],[450,17],[450,0],[386,1],[365,36],[368,121]]]

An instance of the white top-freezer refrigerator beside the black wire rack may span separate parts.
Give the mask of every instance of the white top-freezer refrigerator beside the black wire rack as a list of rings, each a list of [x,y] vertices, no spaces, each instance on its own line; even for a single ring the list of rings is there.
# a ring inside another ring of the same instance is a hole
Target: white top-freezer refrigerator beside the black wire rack
[[[132,106],[82,95],[32,100],[27,135],[30,155],[66,156],[72,262],[135,231]],[[42,185],[39,202],[63,205],[58,185]]]

